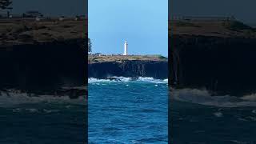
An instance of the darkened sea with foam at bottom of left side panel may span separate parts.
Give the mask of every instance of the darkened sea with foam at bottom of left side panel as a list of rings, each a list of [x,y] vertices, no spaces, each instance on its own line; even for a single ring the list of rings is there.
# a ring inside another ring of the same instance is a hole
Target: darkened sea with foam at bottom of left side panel
[[[86,142],[86,100],[28,94],[0,96],[1,144]]]

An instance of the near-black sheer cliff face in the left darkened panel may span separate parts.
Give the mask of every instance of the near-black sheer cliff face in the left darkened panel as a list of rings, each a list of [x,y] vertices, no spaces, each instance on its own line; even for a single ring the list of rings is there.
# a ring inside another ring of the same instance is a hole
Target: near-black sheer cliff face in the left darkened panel
[[[86,84],[86,40],[0,48],[0,88],[57,90]]]

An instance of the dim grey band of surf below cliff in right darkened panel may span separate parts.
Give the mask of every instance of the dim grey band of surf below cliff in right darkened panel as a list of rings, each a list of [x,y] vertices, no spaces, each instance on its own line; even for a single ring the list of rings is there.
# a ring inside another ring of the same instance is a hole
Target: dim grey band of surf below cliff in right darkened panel
[[[191,102],[206,106],[218,107],[256,107],[256,94],[245,95],[241,98],[230,95],[211,95],[207,90],[181,89],[171,90],[170,98],[180,102]]]

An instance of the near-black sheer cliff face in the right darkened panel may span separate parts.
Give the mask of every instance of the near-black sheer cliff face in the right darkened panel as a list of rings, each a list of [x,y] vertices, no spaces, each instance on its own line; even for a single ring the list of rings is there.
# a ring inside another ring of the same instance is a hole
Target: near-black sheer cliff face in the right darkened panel
[[[256,39],[174,35],[169,42],[171,86],[234,96],[256,92]]]

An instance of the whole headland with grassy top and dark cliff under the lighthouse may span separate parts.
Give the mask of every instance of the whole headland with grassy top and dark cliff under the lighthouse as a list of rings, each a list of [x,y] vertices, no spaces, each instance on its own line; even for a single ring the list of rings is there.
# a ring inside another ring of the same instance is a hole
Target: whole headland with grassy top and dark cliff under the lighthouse
[[[88,78],[168,78],[168,60],[158,56],[89,56]]]

